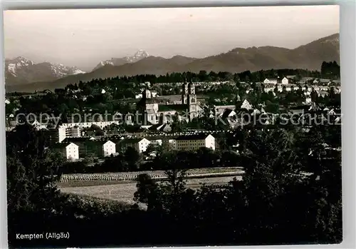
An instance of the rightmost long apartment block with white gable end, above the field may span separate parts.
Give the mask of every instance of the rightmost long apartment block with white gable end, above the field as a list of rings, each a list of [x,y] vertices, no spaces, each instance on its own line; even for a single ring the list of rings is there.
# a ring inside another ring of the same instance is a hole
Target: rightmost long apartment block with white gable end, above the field
[[[176,140],[176,148],[179,151],[196,151],[201,147],[215,150],[214,136],[207,134],[179,136]]]

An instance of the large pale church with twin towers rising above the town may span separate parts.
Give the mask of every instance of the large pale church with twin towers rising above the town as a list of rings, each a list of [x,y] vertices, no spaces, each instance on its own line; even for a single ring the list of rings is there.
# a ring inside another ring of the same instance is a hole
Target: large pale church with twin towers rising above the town
[[[189,83],[185,81],[182,84],[182,103],[180,104],[160,104],[158,98],[153,97],[148,88],[142,91],[142,98],[137,103],[137,111],[144,115],[147,125],[169,123],[174,117],[177,117],[179,121],[192,121],[202,110],[192,81]]]

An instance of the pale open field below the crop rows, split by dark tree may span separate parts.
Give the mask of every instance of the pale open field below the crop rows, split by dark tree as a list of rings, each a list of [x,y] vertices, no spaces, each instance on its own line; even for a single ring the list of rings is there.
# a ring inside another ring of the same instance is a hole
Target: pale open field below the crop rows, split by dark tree
[[[198,179],[188,179],[187,188],[197,189],[200,188],[204,183],[206,185],[213,184],[226,184],[229,183],[234,178],[234,176],[228,177],[216,177],[216,178],[198,178]],[[241,176],[237,176],[237,179],[241,180]],[[94,184],[97,183],[95,186]],[[108,200],[118,200],[125,203],[133,203],[133,195],[136,191],[136,182],[122,182],[122,183],[99,183],[95,181],[92,186],[61,186],[61,191],[64,193],[74,193],[77,195],[88,195],[97,198],[105,198]],[[98,185],[102,184],[102,185]]]

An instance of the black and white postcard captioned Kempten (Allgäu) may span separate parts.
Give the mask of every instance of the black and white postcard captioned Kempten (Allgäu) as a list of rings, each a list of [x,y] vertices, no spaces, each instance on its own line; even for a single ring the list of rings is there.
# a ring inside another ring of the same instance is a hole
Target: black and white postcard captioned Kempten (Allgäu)
[[[9,246],[342,241],[339,6],[4,12]]]

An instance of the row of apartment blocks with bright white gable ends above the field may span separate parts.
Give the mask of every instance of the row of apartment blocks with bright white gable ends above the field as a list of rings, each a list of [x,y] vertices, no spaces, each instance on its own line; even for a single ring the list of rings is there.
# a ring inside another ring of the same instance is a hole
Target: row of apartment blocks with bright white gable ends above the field
[[[115,156],[119,151],[134,148],[138,153],[147,151],[150,145],[163,145],[178,151],[196,151],[199,148],[215,150],[216,141],[211,134],[192,134],[177,136],[176,138],[122,138],[122,139],[95,139],[95,138],[66,138],[62,143],[56,143],[51,149],[63,154],[68,160],[75,161],[85,158],[88,154],[104,158]]]

